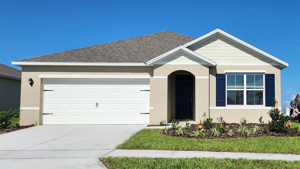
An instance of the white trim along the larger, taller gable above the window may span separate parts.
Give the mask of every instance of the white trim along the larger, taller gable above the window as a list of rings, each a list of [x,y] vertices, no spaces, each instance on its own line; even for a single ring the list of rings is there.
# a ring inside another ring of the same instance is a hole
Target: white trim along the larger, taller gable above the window
[[[272,56],[272,55],[270,55],[270,54],[268,54],[268,53],[266,53],[266,52],[264,52],[264,51],[262,51],[262,50],[260,50],[258,48],[255,48],[254,46],[252,46],[252,45],[250,45],[250,44],[242,41],[241,39],[238,39],[238,38],[236,38],[236,37],[234,37],[234,36],[232,36],[232,35],[224,32],[224,31],[222,31],[221,29],[215,29],[215,30],[209,32],[208,34],[205,34],[205,35],[203,35],[203,36],[201,36],[199,38],[196,38],[193,41],[190,41],[190,42],[184,44],[183,46],[184,47],[188,47],[188,46],[193,45],[195,43],[198,43],[199,41],[201,41],[201,40],[203,40],[205,38],[208,38],[209,36],[212,36],[212,35],[214,35],[216,33],[220,33],[221,35],[223,35],[223,36],[225,36],[225,37],[227,37],[227,38],[229,38],[229,39],[231,39],[231,40],[233,40],[233,41],[235,41],[235,42],[237,42],[237,43],[239,43],[239,44],[241,44],[241,45],[243,45],[243,46],[245,46],[245,47],[247,47],[247,48],[249,48],[249,49],[251,49],[251,50],[253,50],[253,51],[255,51],[255,52],[257,52],[257,53],[259,53],[259,54],[261,54],[261,55],[263,55],[265,57],[267,57],[267,58],[269,58],[269,59],[271,59],[271,60],[273,60],[274,62],[279,63],[283,67],[289,66],[289,64],[286,63],[286,62],[284,62],[283,60],[280,60],[277,57],[274,57],[274,56]]]

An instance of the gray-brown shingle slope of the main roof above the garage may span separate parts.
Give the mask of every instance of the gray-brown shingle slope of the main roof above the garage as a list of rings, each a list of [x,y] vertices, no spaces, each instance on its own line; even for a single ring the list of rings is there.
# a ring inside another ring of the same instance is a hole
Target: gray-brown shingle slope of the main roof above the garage
[[[143,63],[192,40],[189,36],[164,31],[17,61]]]

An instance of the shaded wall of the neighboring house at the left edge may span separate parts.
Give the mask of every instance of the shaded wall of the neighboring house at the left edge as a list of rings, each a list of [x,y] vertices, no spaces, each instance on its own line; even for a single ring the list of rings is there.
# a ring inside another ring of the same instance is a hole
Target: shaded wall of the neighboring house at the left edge
[[[0,93],[0,111],[20,107],[20,80],[0,77]]]

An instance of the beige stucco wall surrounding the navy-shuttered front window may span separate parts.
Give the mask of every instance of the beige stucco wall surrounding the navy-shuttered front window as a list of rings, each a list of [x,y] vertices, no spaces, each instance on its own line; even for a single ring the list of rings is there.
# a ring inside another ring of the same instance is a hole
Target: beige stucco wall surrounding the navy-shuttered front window
[[[224,70],[265,70],[266,74],[275,74],[275,99],[278,101],[278,107],[281,107],[281,92],[280,92],[280,66],[216,66],[209,68],[209,114],[214,120],[222,116],[226,122],[238,122],[241,118],[246,118],[250,123],[257,123],[260,116],[267,122],[270,117],[268,111],[270,107],[261,106],[262,109],[251,109],[251,106],[246,106],[247,109],[228,109],[226,107],[216,107],[216,74],[225,74]],[[259,107],[254,106],[254,107]],[[237,106],[234,106],[237,107]],[[245,107],[241,105],[241,107]],[[269,108],[269,109],[266,109]]]

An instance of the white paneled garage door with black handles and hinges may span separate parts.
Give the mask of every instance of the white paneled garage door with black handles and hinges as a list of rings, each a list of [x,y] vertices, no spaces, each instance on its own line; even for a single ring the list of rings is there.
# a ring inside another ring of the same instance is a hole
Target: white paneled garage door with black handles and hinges
[[[149,124],[149,88],[149,79],[44,79],[43,124]]]

